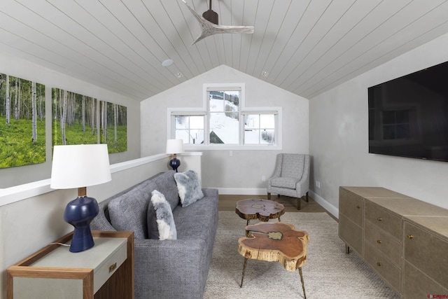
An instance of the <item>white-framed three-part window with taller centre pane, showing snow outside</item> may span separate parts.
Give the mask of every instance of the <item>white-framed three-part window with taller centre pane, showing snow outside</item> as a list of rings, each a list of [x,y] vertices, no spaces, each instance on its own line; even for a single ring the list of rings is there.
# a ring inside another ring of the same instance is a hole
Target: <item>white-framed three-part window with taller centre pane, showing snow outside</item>
[[[202,108],[168,109],[168,138],[191,149],[279,149],[281,107],[246,108],[244,91],[244,84],[204,84]]]

